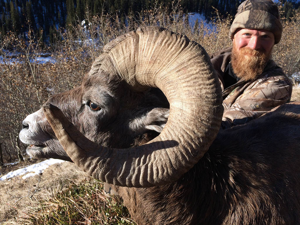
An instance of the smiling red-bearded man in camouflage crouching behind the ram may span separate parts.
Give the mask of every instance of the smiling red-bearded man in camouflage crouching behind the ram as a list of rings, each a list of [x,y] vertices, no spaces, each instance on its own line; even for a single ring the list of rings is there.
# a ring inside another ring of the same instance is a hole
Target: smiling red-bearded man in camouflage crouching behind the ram
[[[223,94],[222,128],[243,124],[291,99],[292,82],[271,59],[282,34],[271,0],[246,0],[238,7],[229,37],[232,47],[210,55]]]

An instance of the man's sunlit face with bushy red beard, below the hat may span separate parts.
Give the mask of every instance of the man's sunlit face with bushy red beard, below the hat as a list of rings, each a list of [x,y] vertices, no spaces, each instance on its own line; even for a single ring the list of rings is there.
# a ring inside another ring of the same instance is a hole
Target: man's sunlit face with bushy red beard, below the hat
[[[271,58],[274,34],[267,30],[239,29],[233,38],[232,69],[245,80],[261,74]]]

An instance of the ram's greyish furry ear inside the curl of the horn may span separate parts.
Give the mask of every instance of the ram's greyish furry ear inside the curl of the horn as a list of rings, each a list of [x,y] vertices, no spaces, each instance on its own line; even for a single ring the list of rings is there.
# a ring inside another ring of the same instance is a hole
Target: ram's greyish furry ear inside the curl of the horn
[[[144,134],[146,131],[157,131],[161,133],[169,117],[169,109],[154,108],[147,111],[131,121],[129,127],[136,134]]]

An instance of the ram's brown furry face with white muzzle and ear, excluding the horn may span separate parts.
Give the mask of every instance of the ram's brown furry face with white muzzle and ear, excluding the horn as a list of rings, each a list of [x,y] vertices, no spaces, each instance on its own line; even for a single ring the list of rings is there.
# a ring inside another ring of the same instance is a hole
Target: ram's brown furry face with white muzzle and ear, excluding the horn
[[[51,97],[51,103],[88,139],[107,147],[127,148],[146,143],[164,128],[168,102],[152,88],[132,91],[108,76],[85,76],[81,87]],[[20,140],[32,157],[71,161],[55,137],[42,109],[23,121]]]

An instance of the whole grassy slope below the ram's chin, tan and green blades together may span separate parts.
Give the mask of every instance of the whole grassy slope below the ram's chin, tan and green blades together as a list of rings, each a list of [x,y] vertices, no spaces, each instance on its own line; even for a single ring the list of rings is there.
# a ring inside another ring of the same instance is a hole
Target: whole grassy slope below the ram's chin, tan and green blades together
[[[54,164],[39,176],[0,182],[0,224],[135,224],[121,199],[75,164]]]

